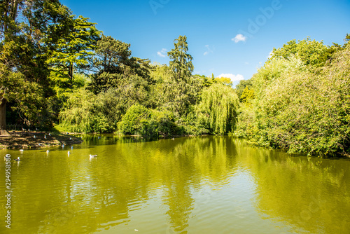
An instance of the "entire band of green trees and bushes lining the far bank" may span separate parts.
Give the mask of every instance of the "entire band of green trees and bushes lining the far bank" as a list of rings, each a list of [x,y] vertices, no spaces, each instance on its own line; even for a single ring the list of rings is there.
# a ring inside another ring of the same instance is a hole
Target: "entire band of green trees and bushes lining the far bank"
[[[350,36],[292,40],[249,80],[193,75],[186,36],[169,64],[132,56],[58,0],[0,3],[0,130],[223,135],[310,155],[349,155]]]

